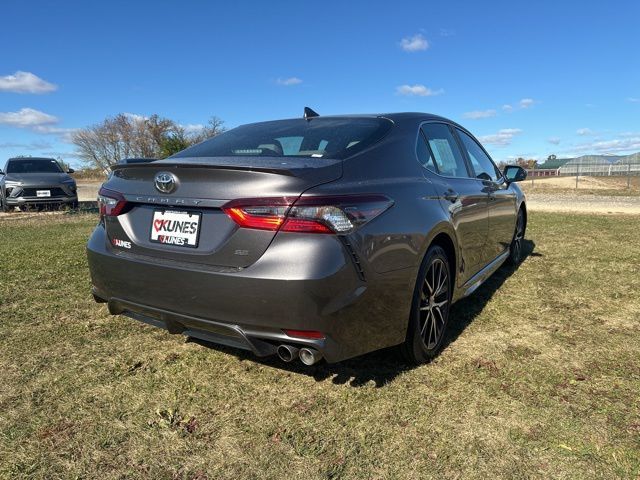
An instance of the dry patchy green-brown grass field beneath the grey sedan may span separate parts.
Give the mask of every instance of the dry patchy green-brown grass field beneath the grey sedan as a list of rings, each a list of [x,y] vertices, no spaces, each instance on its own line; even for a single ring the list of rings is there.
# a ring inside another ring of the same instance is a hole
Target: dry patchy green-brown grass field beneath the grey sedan
[[[640,216],[532,213],[450,343],[286,366],[93,303],[95,218],[0,221],[0,478],[640,475]]]

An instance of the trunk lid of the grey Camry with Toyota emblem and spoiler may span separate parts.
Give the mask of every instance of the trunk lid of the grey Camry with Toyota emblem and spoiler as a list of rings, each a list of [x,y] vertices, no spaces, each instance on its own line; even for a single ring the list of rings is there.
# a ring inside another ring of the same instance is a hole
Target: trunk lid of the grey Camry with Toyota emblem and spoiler
[[[341,175],[341,161],[316,158],[220,158],[215,163],[179,159],[117,166],[103,187],[121,194],[126,206],[118,216],[105,217],[108,241],[121,255],[197,263],[202,268],[247,267],[262,256],[275,232],[238,228],[222,211],[225,203],[258,197],[295,199]],[[160,191],[159,177],[171,178],[174,188]],[[159,235],[171,237],[176,227],[188,229],[186,241],[159,241],[164,240]]]

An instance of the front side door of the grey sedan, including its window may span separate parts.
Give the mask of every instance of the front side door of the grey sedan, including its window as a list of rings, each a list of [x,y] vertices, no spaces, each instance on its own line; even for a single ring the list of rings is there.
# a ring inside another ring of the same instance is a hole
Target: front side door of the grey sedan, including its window
[[[486,263],[489,263],[511,244],[516,226],[516,193],[509,188],[482,146],[466,132],[456,130],[474,176],[483,183],[488,195],[489,232],[485,257]]]

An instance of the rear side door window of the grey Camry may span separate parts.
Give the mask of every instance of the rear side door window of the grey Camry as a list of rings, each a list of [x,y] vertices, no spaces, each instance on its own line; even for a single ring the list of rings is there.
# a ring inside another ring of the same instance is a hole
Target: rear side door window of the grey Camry
[[[422,132],[427,139],[440,175],[469,178],[467,164],[462,152],[460,152],[458,142],[447,125],[444,123],[425,123],[422,125]]]

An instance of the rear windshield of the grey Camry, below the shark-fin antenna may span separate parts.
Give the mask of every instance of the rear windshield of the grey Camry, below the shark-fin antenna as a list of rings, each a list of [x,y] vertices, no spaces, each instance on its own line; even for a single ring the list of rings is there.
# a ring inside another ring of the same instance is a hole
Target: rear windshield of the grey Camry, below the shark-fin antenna
[[[180,157],[300,157],[345,159],[391,129],[385,118],[312,118],[253,123],[177,153]]]

